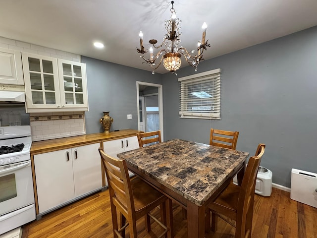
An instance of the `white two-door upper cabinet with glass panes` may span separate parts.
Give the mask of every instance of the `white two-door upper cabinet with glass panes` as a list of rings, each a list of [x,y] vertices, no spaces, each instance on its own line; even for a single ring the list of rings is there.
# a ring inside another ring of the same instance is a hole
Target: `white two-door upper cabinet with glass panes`
[[[86,65],[22,53],[27,113],[88,111]]]

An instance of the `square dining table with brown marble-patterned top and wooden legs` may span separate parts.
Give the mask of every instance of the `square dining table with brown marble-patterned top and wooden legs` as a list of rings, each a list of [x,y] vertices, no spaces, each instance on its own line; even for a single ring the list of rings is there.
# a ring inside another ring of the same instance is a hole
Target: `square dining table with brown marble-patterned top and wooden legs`
[[[205,237],[206,205],[238,175],[248,152],[172,139],[117,154],[128,169],[187,210],[188,238]]]

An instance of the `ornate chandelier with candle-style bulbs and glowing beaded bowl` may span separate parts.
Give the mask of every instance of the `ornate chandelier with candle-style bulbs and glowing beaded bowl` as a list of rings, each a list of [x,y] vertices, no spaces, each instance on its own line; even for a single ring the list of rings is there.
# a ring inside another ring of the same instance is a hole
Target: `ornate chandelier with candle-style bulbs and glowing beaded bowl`
[[[159,67],[163,60],[164,67],[174,73],[177,69],[179,69],[181,65],[181,56],[183,55],[187,63],[193,67],[195,67],[195,71],[197,71],[197,66],[199,62],[203,59],[203,52],[204,50],[207,50],[207,47],[210,47],[210,44],[208,43],[208,40],[206,41],[206,30],[207,30],[207,24],[204,22],[202,30],[203,30],[203,37],[201,41],[198,41],[197,44],[197,55],[194,54],[194,50],[191,52],[188,52],[186,48],[182,46],[178,46],[181,42],[179,39],[179,36],[182,34],[179,30],[181,29],[180,23],[181,20],[179,18],[176,18],[176,11],[173,8],[174,1],[171,1],[172,7],[170,8],[170,11],[172,13],[170,20],[165,20],[165,29],[167,31],[167,34],[163,37],[163,42],[161,45],[156,46],[155,44],[158,43],[157,40],[152,39],[149,41],[151,46],[149,49],[150,52],[150,58],[146,58],[145,54],[148,52],[144,49],[143,46],[143,33],[140,31],[139,37],[140,37],[140,49],[137,48],[137,52],[141,54],[140,57],[142,57],[143,60],[145,60],[143,63],[148,63],[152,68],[152,74],[155,73],[155,69]],[[153,53],[153,49],[160,49],[157,54]],[[177,73],[175,72],[177,75]]]

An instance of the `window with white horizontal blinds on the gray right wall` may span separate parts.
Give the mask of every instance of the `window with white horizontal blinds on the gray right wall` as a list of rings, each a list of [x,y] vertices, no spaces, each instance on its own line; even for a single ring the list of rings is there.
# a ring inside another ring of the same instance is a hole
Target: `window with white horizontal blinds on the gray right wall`
[[[221,69],[179,78],[181,118],[220,119]]]

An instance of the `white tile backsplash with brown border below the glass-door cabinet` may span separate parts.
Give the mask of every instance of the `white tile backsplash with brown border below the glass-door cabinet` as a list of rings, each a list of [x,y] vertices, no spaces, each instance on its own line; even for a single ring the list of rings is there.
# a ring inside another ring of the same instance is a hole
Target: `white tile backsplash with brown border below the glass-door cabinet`
[[[84,135],[84,112],[30,114],[32,141]]]

